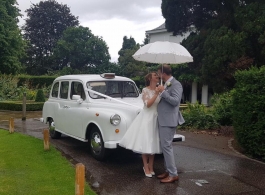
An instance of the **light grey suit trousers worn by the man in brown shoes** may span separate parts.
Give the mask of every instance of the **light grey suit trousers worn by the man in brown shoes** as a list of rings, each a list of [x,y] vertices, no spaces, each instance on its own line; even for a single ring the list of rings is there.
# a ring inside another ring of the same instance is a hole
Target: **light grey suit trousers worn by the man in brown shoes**
[[[176,127],[164,127],[159,125],[158,129],[166,172],[169,173],[169,176],[175,177],[178,175],[178,171],[175,163],[172,141],[176,132]]]

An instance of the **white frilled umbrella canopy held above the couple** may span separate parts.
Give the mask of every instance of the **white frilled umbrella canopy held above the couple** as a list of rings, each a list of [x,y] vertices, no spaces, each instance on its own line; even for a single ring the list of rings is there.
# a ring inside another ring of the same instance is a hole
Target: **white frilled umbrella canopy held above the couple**
[[[138,61],[158,64],[182,64],[193,62],[193,57],[178,43],[157,41],[141,47],[133,58]]]

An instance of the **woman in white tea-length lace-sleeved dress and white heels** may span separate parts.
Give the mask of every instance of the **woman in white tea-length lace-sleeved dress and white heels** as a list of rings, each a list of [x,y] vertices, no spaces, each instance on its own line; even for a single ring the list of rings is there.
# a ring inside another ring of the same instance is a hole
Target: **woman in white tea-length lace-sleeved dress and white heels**
[[[160,97],[156,88],[157,73],[145,76],[146,87],[142,90],[143,110],[137,115],[120,142],[120,146],[142,154],[143,170],[146,177],[155,175],[154,154],[162,153],[158,135],[157,104]]]

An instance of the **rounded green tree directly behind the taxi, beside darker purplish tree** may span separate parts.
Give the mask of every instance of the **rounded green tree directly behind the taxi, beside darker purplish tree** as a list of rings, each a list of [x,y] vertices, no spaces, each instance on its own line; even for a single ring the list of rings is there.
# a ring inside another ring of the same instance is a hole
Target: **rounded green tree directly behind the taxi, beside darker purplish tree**
[[[110,55],[106,42],[94,36],[89,28],[69,27],[54,50],[54,58],[60,68],[71,67],[81,71],[93,70],[108,65]]]

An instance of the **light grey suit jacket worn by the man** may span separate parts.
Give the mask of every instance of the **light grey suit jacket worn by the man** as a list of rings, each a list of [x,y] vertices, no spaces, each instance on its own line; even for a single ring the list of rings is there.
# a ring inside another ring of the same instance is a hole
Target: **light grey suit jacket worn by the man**
[[[179,111],[183,88],[175,78],[170,82],[171,86],[166,87],[161,94],[161,100],[157,106],[158,122],[161,126],[176,127],[185,122]]]

